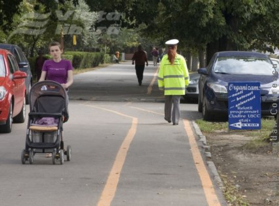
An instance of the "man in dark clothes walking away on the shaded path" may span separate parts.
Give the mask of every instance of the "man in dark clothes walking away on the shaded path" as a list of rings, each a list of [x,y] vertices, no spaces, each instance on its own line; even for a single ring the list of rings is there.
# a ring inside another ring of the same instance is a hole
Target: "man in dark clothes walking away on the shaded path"
[[[148,66],[146,53],[142,50],[141,45],[139,45],[138,51],[136,51],[132,57],[132,64],[135,64],[135,70],[139,85],[142,84],[145,62],[146,66]]]

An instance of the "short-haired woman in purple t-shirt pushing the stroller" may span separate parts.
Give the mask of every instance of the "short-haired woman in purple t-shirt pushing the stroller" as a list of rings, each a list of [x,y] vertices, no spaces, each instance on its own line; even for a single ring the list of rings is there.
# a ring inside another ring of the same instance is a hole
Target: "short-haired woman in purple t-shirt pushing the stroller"
[[[51,42],[49,44],[49,51],[52,59],[44,62],[39,81],[51,80],[58,82],[68,91],[69,86],[73,84],[72,63],[67,59],[61,58],[63,49],[59,42]],[[67,99],[69,99],[68,95]],[[48,153],[46,157],[51,157],[51,153]]]

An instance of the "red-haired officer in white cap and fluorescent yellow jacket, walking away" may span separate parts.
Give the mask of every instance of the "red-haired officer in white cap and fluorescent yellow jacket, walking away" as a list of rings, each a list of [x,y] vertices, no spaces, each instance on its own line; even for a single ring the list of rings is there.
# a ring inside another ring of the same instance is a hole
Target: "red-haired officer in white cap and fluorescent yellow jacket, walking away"
[[[183,56],[176,53],[177,39],[166,42],[167,55],[161,60],[158,72],[158,86],[165,95],[165,120],[178,125],[180,118],[180,96],[185,94],[189,84],[189,73]]]

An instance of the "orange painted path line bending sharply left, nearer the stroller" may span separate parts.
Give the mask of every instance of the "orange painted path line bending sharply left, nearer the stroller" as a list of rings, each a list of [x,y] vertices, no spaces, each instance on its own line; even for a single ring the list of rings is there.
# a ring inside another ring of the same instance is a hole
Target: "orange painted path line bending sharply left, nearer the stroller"
[[[108,112],[116,113],[121,116],[132,118],[131,128],[129,129],[125,139],[123,140],[123,142],[117,152],[116,158],[113,163],[113,167],[110,170],[107,182],[104,186],[104,190],[103,190],[103,192],[100,196],[100,199],[98,201],[98,204],[97,204],[97,206],[109,206],[111,204],[111,201],[114,198],[114,195],[115,195],[115,192],[117,189],[117,184],[119,182],[120,173],[121,173],[122,167],[124,165],[124,162],[125,162],[125,159],[127,156],[127,151],[129,150],[130,144],[131,144],[133,138],[135,137],[135,134],[137,131],[138,118],[128,116],[128,115],[125,115],[125,114],[122,114],[120,112],[116,112],[116,111],[113,111],[110,109],[98,107],[98,106],[86,105],[86,104],[85,104],[85,106],[95,107],[95,108],[102,109],[102,110],[105,110]]]

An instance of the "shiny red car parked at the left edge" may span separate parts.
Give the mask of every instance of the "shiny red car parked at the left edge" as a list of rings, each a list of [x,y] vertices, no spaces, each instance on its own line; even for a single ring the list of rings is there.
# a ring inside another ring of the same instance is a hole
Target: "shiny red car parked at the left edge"
[[[25,83],[27,75],[19,70],[14,56],[0,49],[0,132],[10,133],[12,122],[25,120]]]

